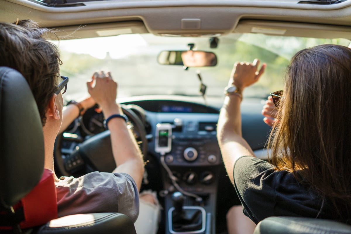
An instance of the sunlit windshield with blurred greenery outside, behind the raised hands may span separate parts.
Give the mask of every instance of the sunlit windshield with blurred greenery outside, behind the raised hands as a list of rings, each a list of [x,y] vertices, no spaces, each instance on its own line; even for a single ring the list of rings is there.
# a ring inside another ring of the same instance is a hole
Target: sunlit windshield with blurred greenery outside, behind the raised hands
[[[263,34],[230,34],[221,36],[217,48],[210,48],[209,38],[174,38],[152,34],[70,39],[54,42],[61,51],[61,75],[69,77],[65,98],[78,99],[87,95],[86,81],[100,70],[111,71],[118,82],[118,97],[147,94],[201,95],[201,72],[207,86],[207,96],[223,96],[236,61],[267,63],[259,82],[245,89],[245,97],[266,98],[271,92],[283,89],[286,66],[292,55],[302,48],[320,44],[348,46],[346,39],[315,39]],[[164,50],[195,50],[213,52],[217,66],[183,69],[183,66],[160,65],[157,56]]]

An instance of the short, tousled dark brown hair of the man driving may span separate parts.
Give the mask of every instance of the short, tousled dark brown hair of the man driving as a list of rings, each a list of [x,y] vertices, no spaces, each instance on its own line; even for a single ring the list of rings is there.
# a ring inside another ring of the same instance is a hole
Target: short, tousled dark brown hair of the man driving
[[[57,89],[62,63],[57,46],[44,38],[49,32],[32,20],[0,23],[0,66],[14,68],[26,78],[43,126],[47,104]]]

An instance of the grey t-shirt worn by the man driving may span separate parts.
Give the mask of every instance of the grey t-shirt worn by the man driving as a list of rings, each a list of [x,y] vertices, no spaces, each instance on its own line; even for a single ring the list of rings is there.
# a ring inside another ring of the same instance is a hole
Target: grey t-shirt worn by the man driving
[[[138,188],[125,173],[92,172],[79,178],[61,177],[55,183],[58,216],[119,212],[133,222],[139,214]]]

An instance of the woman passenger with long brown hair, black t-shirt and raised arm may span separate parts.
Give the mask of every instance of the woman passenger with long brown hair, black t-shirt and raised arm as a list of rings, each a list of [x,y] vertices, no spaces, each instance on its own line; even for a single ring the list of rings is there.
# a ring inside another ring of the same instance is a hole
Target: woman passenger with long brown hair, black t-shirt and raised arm
[[[264,72],[259,60],[234,65],[218,120],[218,142],[243,212],[351,223],[351,49],[320,45],[291,59],[284,91],[272,95],[269,162],[255,158],[241,135],[245,87]],[[234,92],[232,92],[235,90]],[[267,119],[266,123],[267,123]]]

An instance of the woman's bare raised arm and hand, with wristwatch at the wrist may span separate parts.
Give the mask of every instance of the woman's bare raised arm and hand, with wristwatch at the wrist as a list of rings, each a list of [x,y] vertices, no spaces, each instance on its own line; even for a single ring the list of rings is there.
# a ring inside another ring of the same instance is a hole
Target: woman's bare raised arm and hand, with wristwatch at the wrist
[[[264,69],[265,64],[257,71],[259,60],[253,63],[235,63],[229,80],[229,86],[235,85],[242,92],[245,87],[257,82]],[[228,95],[225,97],[223,107],[219,114],[217,138],[221,150],[224,166],[229,179],[234,182],[234,164],[241,156],[254,156],[249,144],[241,134],[241,97],[239,95]]]

